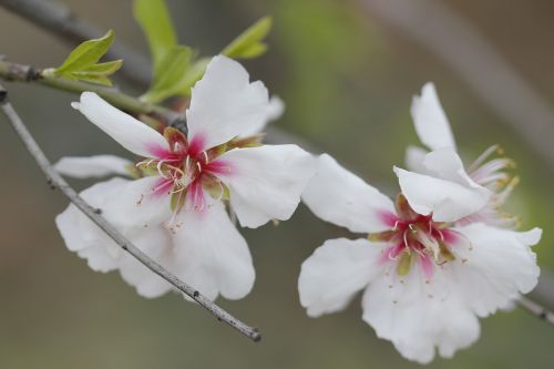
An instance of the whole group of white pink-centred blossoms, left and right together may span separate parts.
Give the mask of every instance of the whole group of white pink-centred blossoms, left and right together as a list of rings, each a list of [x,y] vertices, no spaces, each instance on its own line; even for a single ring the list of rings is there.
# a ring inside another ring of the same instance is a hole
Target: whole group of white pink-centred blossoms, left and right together
[[[205,296],[246,296],[255,271],[244,227],[288,219],[300,199],[324,221],[362,238],[329,239],[304,262],[298,280],[310,317],[343,309],[363,290],[362,319],[402,356],[429,362],[479,337],[479,317],[506,308],[537,281],[531,246],[541,229],[516,232],[501,206],[517,183],[497,146],[465,168],[432,84],[411,114],[425,148],[411,146],[394,167],[390,199],[331,156],[296,145],[264,145],[261,130],[280,115],[259,81],[216,57],[192,90],[186,133],[154,130],[85,92],[73,107],[131,153],[64,157],[74,177],[115,177],[81,196],[142,252]],[[57,217],[69,249],[99,271],[119,270],[140,295],[172,286],[121,250],[70,205]]]

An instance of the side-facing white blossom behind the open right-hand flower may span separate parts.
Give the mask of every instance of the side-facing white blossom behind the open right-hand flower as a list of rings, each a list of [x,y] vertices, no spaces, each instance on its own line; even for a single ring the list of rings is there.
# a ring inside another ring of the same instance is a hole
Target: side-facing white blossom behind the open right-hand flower
[[[414,96],[411,115],[416,132],[431,152],[410,146],[408,168],[394,168],[402,193],[420,214],[431,214],[439,222],[513,226],[514,217],[499,212],[517,177],[506,170],[514,166],[509,158],[488,158],[497,145],[489,147],[465,171],[456,153],[454,137],[432,83],[427,83],[421,96]],[[448,209],[448,211],[447,211]]]

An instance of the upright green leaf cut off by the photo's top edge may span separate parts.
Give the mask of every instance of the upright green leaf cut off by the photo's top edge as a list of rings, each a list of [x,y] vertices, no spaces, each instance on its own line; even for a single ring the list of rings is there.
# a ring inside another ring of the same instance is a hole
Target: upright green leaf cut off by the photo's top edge
[[[177,44],[173,22],[164,0],[135,0],[133,11],[148,40],[155,80],[167,53]]]

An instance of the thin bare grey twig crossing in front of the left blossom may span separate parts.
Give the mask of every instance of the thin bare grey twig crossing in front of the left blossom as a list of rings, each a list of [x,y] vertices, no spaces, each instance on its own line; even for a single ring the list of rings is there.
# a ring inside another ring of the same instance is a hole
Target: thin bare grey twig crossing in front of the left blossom
[[[151,259],[146,254],[126,239],[117,229],[115,229],[102,215],[98,214],[96,209],[86,203],[79,194],[62,178],[58,172],[54,171],[47,156],[32,137],[31,133],[21,121],[21,117],[16,112],[11,103],[8,101],[8,92],[0,85],[0,107],[16,133],[23,142],[25,148],[33,156],[37,165],[42,170],[47,176],[48,183],[53,188],[59,188],[68,199],[83,212],[92,222],[94,222],[102,230],[106,233],[121,248],[127,252],[131,256],[141,262],[148,269],[167,280],[175,286],[178,290],[189,296],[198,303],[206,310],[212,312],[217,320],[225,321],[246,337],[254,341],[259,341],[261,336],[257,328],[253,328],[236,319],[223,308],[212,303],[208,298],[197,291],[195,288],[188,286],[176,276],[167,271],[163,266]]]

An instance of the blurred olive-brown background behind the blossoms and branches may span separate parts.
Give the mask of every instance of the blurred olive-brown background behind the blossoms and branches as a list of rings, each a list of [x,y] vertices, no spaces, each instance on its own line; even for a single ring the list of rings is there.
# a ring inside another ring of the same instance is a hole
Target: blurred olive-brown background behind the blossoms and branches
[[[131,1],[64,3],[102,30],[114,29],[119,42],[147,52]],[[441,3],[493,44],[542,99],[552,101],[552,1]],[[409,116],[411,96],[424,82],[434,81],[468,162],[499,143],[519,163],[522,183],[510,206],[522,215],[523,228],[545,229],[535,250],[543,269],[554,270],[554,163],[491,110],[451,65],[363,0],[168,4],[181,41],[204,54],[216,53],[256,19],[271,14],[269,52],[245,64],[287,104],[286,114],[274,124],[317,151],[331,152],[391,194],[397,189],[392,164],[401,164],[404,147],[418,142]],[[421,17],[424,22],[425,13]],[[0,53],[10,61],[54,66],[69,51],[55,37],[0,9]],[[74,95],[33,85],[8,88],[50,158],[125,154],[70,109]],[[122,88],[141,92],[124,83]],[[520,129],[532,130],[533,123],[522,120]],[[554,121],[543,123],[543,139],[554,139]],[[0,124],[0,368],[419,367],[376,338],[361,321],[359,298],[343,312],[306,316],[296,289],[301,262],[322,240],[351,235],[318,221],[304,206],[291,222],[243,230],[257,269],[256,285],[243,300],[218,303],[261,328],[263,341],[253,344],[176,294],[143,299],[116,273],[93,273],[68,252],[53,223],[66,203],[49,189],[7,124]],[[75,183],[79,188],[86,185]],[[430,367],[554,368],[553,348],[554,328],[515,309],[482,320],[478,344]]]

